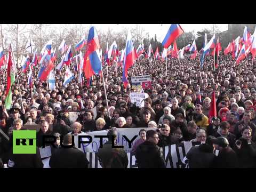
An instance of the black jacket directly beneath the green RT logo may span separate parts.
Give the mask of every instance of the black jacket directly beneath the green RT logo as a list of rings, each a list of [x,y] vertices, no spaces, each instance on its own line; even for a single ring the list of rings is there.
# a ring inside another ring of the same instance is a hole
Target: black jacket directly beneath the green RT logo
[[[10,160],[14,162],[12,168],[43,168],[39,148],[36,148],[36,154],[12,154]]]

